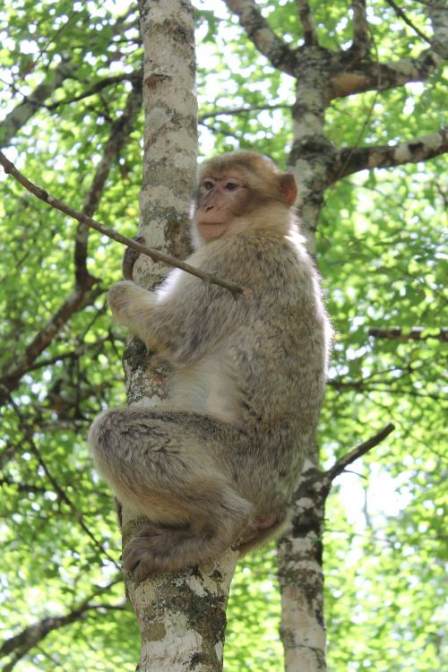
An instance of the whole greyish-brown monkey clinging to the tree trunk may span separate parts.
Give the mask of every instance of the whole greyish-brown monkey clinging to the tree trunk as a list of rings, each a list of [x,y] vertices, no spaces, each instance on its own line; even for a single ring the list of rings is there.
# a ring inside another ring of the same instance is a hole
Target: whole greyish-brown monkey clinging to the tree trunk
[[[176,269],[155,292],[130,280],[109,306],[166,359],[168,401],[103,412],[90,428],[99,472],[149,521],[126,572],[206,563],[278,536],[323,400],[330,324],[291,207],[294,177],[238,151],[202,168],[188,263],[249,289]]]

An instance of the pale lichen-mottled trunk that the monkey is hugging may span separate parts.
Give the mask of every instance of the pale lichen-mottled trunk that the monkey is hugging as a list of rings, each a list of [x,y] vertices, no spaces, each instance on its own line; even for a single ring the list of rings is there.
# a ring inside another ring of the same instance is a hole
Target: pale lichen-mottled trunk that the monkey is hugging
[[[141,0],[144,48],[144,154],[140,235],[151,247],[183,257],[188,248],[189,200],[196,170],[194,14],[185,0]],[[148,257],[134,266],[143,287],[166,273]],[[164,395],[164,372],[142,344],[125,353],[128,401],[153,404]],[[122,512],[123,543],[142,525]],[[137,617],[142,650],[140,672],[222,669],[228,589],[237,553],[228,551],[207,566],[154,575],[136,586],[125,577]]]

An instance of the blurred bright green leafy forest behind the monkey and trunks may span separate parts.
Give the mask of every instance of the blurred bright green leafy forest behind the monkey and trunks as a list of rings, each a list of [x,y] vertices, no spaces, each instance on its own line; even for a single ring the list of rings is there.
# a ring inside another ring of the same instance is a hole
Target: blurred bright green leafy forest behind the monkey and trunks
[[[292,79],[224,3],[194,6],[200,159],[247,148],[286,168]],[[294,2],[258,6],[283,40],[300,44]],[[404,18],[394,3],[368,4],[382,60],[418,58],[433,35],[425,3],[402,6]],[[349,45],[349,3],[312,7],[323,47]],[[0,42],[8,157],[51,194],[133,236],[142,170],[136,5],[4,2]],[[333,99],[328,139],[391,146],[439,131],[441,67],[420,79]],[[85,444],[99,409],[125,401],[126,334],[106,307],[123,247],[0,179],[3,669],[132,670],[138,631],[117,572],[115,513]],[[337,671],[442,666],[445,209],[440,157],[345,177],[320,213],[316,254],[336,330],[323,467],[396,426],[338,478],[327,503],[325,609]],[[269,547],[237,571],[225,668],[280,670],[279,619]]]

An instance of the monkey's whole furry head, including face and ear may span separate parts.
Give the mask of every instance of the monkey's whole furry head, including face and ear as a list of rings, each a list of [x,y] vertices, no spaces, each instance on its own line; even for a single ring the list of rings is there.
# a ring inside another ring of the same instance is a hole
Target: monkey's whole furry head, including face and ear
[[[209,243],[242,228],[257,228],[268,206],[286,213],[296,196],[293,175],[280,173],[271,159],[252,151],[224,154],[202,167],[195,199],[197,233]]]

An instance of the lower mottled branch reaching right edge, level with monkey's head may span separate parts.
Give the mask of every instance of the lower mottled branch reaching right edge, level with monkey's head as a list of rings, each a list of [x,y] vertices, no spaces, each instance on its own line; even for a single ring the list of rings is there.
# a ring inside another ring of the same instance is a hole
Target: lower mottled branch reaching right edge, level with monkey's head
[[[448,151],[446,129],[428,135],[421,135],[396,145],[373,147],[352,147],[340,150],[334,163],[332,182],[359,170],[392,168],[405,163],[417,163],[433,159]]]

